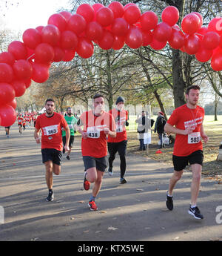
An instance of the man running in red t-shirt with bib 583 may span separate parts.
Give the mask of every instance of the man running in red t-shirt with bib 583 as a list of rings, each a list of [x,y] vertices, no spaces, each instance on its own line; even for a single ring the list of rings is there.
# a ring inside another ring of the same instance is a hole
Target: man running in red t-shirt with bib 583
[[[176,134],[172,162],[174,173],[169,180],[169,190],[166,193],[166,206],[173,209],[172,190],[181,179],[186,165],[192,168],[191,203],[188,213],[196,219],[203,219],[198,209],[197,200],[201,186],[201,171],[203,164],[203,145],[201,138],[206,143],[208,137],[203,131],[204,109],[198,106],[200,87],[192,85],[186,90],[186,104],[173,111],[164,130]],[[175,127],[174,127],[175,125]]]

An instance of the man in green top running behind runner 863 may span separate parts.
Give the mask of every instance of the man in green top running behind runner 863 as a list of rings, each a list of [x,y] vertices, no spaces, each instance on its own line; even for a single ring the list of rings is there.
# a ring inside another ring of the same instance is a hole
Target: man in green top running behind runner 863
[[[67,160],[70,160],[70,153],[73,148],[73,143],[74,143],[74,125],[77,123],[77,119],[73,116],[72,108],[67,108],[67,115],[64,116],[64,119],[67,121],[67,124],[69,125],[70,128],[70,143],[69,143],[69,148],[70,150],[68,151],[67,154]],[[66,131],[62,130],[62,142],[63,145],[66,145],[67,142],[67,137],[66,137]],[[63,154],[65,152],[65,149],[63,148]]]

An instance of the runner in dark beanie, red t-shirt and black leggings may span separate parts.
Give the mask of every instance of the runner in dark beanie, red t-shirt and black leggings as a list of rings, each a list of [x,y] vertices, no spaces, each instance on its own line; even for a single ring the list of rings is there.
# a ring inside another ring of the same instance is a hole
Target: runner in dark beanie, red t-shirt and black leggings
[[[115,154],[118,152],[121,164],[121,179],[120,183],[124,184],[127,183],[127,180],[125,179],[125,172],[126,172],[126,151],[127,151],[127,131],[126,126],[129,125],[128,120],[128,112],[124,110],[124,98],[119,96],[118,99],[115,102],[115,105],[117,108],[113,108],[110,111],[110,114],[115,119],[115,126],[116,126],[116,137],[110,137],[108,136],[108,151],[110,153],[109,157],[109,169],[108,173],[110,176],[113,174],[112,170],[112,163],[115,160]]]

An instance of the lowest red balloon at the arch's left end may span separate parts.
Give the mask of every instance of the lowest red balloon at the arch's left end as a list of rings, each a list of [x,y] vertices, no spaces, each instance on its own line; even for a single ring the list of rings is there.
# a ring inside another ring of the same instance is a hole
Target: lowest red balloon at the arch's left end
[[[13,125],[16,122],[17,115],[15,109],[10,105],[1,105],[0,106],[0,119],[1,126],[7,127]]]

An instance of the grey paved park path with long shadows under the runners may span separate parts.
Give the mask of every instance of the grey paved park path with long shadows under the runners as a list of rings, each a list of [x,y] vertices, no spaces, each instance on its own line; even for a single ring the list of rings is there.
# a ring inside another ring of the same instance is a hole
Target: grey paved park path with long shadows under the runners
[[[165,198],[172,165],[135,154],[127,154],[124,185],[119,184],[116,157],[113,176],[104,174],[96,200],[98,211],[90,211],[91,189],[84,191],[82,186],[80,138],[74,142],[71,160],[63,157],[61,175],[54,176],[55,200],[46,202],[41,148],[33,131],[31,127],[19,134],[13,125],[8,139],[0,128],[1,241],[207,241],[222,237],[222,214],[216,212],[218,206],[222,208],[222,185],[202,178],[198,206],[204,219],[195,220],[187,213],[192,174],[185,171],[175,188],[175,209],[168,211]]]

